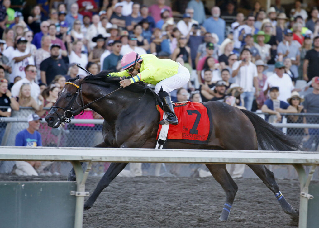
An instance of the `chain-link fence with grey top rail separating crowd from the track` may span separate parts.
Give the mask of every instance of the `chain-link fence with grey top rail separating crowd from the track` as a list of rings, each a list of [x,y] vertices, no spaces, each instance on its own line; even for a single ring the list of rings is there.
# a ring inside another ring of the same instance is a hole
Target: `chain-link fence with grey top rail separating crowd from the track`
[[[2,108],[2,107],[0,107]],[[19,111],[12,111],[11,117],[0,117],[0,142],[2,146],[14,146],[15,136],[18,132],[28,127],[27,116],[34,111],[30,108],[21,107]],[[271,122],[291,137],[291,140],[301,144],[304,151],[319,151],[319,114],[282,114],[280,123],[272,115],[257,113],[263,119]],[[71,123],[61,125],[59,128],[49,128],[44,120],[41,121],[40,129],[43,146],[61,147],[93,147],[103,141],[102,119],[72,119]],[[0,161],[0,173],[10,173],[14,166],[12,161]],[[90,175],[102,176],[110,163],[93,163]],[[279,179],[298,178],[296,171],[291,165],[268,165],[271,171]],[[54,162],[42,174],[67,175],[72,168],[69,162]],[[241,166],[241,169],[243,165]],[[229,172],[232,170],[236,177],[238,167],[227,165]],[[307,167],[308,169],[308,167]],[[237,171],[236,171],[237,170]],[[142,172],[141,172],[142,171]],[[128,165],[121,173],[122,176],[156,175],[156,176],[201,176],[210,175],[208,169],[202,164],[153,164],[135,163]],[[239,175],[241,176],[241,175]],[[238,177],[239,177],[238,176]],[[248,168],[244,167],[244,178],[256,178],[257,176]],[[318,172],[314,175],[319,179]]]

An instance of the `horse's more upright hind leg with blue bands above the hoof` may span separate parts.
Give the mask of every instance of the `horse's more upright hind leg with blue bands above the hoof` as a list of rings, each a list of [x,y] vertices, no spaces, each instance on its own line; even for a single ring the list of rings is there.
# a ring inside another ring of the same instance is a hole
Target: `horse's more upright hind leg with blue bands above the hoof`
[[[209,171],[211,171],[211,174],[213,175],[215,180],[221,185],[221,187],[224,189],[226,193],[224,208],[219,217],[219,220],[225,221],[228,219],[238,187],[236,183],[234,182],[233,178],[227,172],[226,165],[218,165],[218,164],[205,164],[205,165],[207,166]]]

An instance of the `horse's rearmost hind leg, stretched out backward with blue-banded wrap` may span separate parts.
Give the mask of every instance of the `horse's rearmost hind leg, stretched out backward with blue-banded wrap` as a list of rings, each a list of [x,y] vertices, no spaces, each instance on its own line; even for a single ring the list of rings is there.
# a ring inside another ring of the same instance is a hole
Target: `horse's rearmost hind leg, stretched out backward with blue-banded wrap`
[[[275,194],[280,206],[284,212],[292,218],[298,218],[299,210],[294,210],[293,207],[286,201],[285,197],[279,190],[276,183],[274,173],[266,168],[265,165],[248,165],[254,173],[263,181],[263,183]]]

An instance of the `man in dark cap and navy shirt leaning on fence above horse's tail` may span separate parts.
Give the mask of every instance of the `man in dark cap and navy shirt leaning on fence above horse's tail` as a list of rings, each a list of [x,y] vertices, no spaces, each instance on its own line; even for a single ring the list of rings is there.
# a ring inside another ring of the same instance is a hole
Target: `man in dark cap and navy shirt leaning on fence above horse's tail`
[[[280,113],[297,113],[297,109],[295,109],[293,106],[289,105],[285,101],[277,99],[279,96],[279,87],[273,86],[269,91],[270,99],[267,99],[265,102],[263,102],[261,110],[263,113],[276,115],[276,121],[270,122],[281,122]]]

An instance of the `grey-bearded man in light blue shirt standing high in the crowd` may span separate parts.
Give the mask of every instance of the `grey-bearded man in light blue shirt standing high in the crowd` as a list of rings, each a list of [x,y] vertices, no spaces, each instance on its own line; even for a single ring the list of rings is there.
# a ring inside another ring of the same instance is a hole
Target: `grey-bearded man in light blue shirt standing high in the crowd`
[[[218,44],[221,44],[225,40],[226,23],[222,18],[219,17],[220,16],[219,7],[214,6],[211,9],[211,15],[212,17],[207,18],[204,21],[203,26],[207,32],[216,33],[219,38]]]

